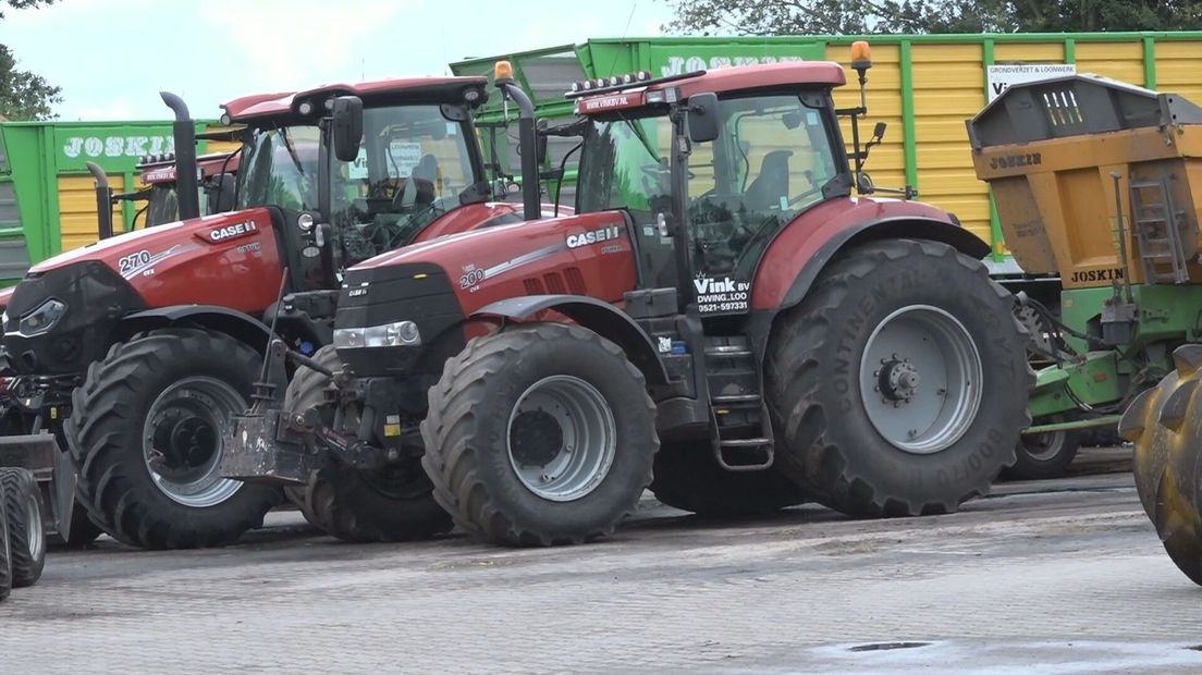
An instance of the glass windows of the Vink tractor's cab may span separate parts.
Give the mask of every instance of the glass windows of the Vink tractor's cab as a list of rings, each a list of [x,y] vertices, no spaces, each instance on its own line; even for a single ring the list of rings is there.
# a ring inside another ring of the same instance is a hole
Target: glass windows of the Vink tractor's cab
[[[821,202],[837,177],[833,120],[796,94],[724,98],[718,113],[719,137],[695,144],[689,159],[694,269],[749,279],[776,232]],[[595,118],[584,136],[577,210],[626,209],[641,233],[657,214],[668,217],[671,141],[662,114]]]

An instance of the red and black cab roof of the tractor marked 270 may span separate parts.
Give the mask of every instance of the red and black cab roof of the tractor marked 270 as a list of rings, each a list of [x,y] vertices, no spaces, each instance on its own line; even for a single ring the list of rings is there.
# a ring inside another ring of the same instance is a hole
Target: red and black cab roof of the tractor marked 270
[[[335,96],[358,96],[367,104],[387,103],[458,103],[465,102],[465,95],[475,89],[478,96],[466,101],[480,106],[488,98],[483,77],[407,77],[361,82],[357,84],[323,84],[303,91],[284,91],[275,94],[252,94],[234,98],[221,106],[231,121],[248,123],[263,119],[296,120],[300,115],[298,107],[304,101],[315,103],[321,110],[322,103]]]

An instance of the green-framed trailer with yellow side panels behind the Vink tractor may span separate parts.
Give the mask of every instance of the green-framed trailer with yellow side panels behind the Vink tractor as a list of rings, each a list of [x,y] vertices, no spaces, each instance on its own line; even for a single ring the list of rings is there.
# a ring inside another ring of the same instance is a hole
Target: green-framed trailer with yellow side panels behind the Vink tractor
[[[885,143],[873,150],[869,162],[874,181],[911,185],[924,202],[954,213],[968,229],[990,243],[993,252],[986,262],[993,273],[1014,281],[1024,279],[1023,270],[1005,246],[988,186],[974,173],[965,119],[1006,84],[1020,82],[1023,71],[1063,73],[1066,66],[1069,72],[1097,73],[1202,100],[1202,80],[1196,76],[1202,70],[1202,32],[596,38],[468,59],[451,64],[451,70],[492,77],[493,64],[508,59],[518,83],[531,94],[537,115],[557,123],[572,118],[572,102],[564,92],[584,78],[635,71],[661,77],[797,59],[846,64],[857,40],[873,44],[867,129],[877,121],[888,124]],[[843,88],[837,102],[858,104],[856,88]],[[507,142],[502,126],[513,118],[512,109],[506,117],[500,100],[489,101],[480,115],[486,153],[495,145],[492,156],[499,171],[510,174],[518,173],[519,163],[516,143]],[[844,136],[850,138],[850,130]],[[545,168],[555,168],[575,141],[552,137]],[[566,169],[561,201],[570,205],[571,160]],[[555,183],[547,183],[552,197]],[[1054,285],[1034,281],[1036,294],[1054,295]]]

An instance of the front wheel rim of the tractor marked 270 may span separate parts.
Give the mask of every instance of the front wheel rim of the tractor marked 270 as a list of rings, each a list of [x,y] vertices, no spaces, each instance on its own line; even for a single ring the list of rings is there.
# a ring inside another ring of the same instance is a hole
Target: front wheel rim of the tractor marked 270
[[[212,377],[188,377],[159,395],[143,426],[142,448],[150,479],[172,501],[192,508],[219,504],[242,482],[219,473],[222,436],[246,400]]]

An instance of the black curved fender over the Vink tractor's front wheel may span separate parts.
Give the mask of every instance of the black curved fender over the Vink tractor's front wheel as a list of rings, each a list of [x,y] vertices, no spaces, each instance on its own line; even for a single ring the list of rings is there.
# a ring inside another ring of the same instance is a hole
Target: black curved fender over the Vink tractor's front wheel
[[[668,384],[668,374],[664,369],[651,339],[625,312],[613,305],[587,295],[525,295],[508,298],[486,305],[474,312],[470,318],[502,318],[529,321],[545,311],[554,311],[566,316],[575,323],[588,328],[597,335],[618,345],[626,352],[630,363],[642,371],[648,386]]]

